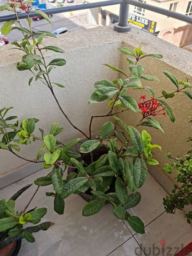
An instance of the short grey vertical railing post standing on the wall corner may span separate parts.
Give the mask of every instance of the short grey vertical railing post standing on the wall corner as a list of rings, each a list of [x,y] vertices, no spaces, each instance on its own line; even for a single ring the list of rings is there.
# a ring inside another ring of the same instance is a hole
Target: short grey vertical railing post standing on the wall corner
[[[113,30],[119,33],[129,32],[131,30],[131,25],[127,23],[128,13],[129,4],[126,2],[126,0],[122,0],[122,3],[120,4],[119,22],[114,24]]]

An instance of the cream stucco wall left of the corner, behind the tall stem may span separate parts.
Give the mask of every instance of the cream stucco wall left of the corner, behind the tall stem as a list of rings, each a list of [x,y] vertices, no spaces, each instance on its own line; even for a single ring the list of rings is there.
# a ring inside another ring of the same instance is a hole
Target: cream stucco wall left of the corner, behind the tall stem
[[[53,82],[66,86],[64,89],[55,86],[55,93],[72,122],[88,134],[91,115],[105,113],[105,110],[107,112],[106,104],[88,105],[88,99],[96,81],[116,78],[117,74],[104,67],[102,63],[119,65],[120,54],[117,48],[121,45],[121,39],[107,29],[98,27],[47,40],[47,45],[56,45],[66,51],[64,54],[49,51],[46,58],[46,61],[49,61],[63,57],[67,61],[65,66],[58,67],[51,74]],[[20,120],[26,117],[40,119],[36,126],[45,129],[47,133],[49,124],[59,121],[64,130],[58,135],[58,139],[63,142],[81,137],[82,134],[74,130],[62,116],[47,87],[39,82],[28,85],[31,74],[25,71],[19,72],[15,68],[16,62],[20,61],[20,51],[9,48],[11,46],[0,48],[0,108],[14,106],[10,113],[17,115]],[[104,122],[103,118],[94,121],[93,132],[96,132]],[[36,134],[40,135],[38,128]],[[33,159],[39,145],[37,142],[31,146],[23,145],[19,154]],[[26,161],[5,150],[0,150],[0,175],[5,175],[25,164]]]

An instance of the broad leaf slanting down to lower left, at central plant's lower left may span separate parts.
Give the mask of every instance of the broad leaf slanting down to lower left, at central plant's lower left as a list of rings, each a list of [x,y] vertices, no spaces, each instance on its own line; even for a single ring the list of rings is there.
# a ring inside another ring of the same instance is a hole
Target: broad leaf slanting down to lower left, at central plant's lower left
[[[84,185],[89,179],[87,177],[77,177],[75,179],[70,180],[68,183],[64,185],[63,191],[61,193],[61,197],[64,199],[78,190],[81,186]]]

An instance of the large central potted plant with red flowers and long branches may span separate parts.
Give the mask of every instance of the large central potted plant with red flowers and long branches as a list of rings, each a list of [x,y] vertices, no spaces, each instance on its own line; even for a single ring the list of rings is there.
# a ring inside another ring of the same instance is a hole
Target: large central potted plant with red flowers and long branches
[[[150,57],[161,59],[162,55],[145,54],[141,47],[134,50],[120,48],[120,52],[128,56],[130,74],[106,64],[112,70],[124,75],[125,78],[118,78],[115,81],[100,80],[95,83],[95,91],[91,95],[89,103],[97,104],[108,101],[109,111],[106,114],[92,116],[89,122],[89,134],[86,134],[72,123],[54,92],[54,86],[59,86],[61,89],[64,86],[53,83],[50,79],[50,73],[55,67],[66,64],[62,58],[53,59],[48,63],[45,59],[46,51],[63,53],[63,49],[45,45],[45,37],[55,36],[47,31],[35,33],[32,31],[29,18],[31,6],[28,1],[12,0],[11,3],[1,6],[0,10],[13,11],[16,15],[16,20],[5,23],[1,32],[6,35],[11,29],[17,29],[24,34],[22,42],[15,41],[12,43],[15,48],[24,52],[22,61],[17,63],[17,69],[32,73],[29,85],[34,80],[38,80],[48,87],[65,119],[85,138],[83,143],[82,138],[75,138],[69,143],[58,141],[56,136],[62,132],[58,122],[50,125],[49,134],[44,134],[44,131],[39,128],[40,133],[36,135],[34,131],[38,119],[30,117],[21,123],[15,122],[13,120],[17,118],[16,116],[7,117],[10,108],[0,110],[0,132],[2,134],[0,148],[28,162],[42,162],[45,169],[51,168],[47,176],[39,177],[34,181],[37,188],[32,199],[39,186],[52,185],[48,187],[46,195],[53,197],[54,210],[58,214],[63,214],[65,198],[72,193],[80,194],[88,201],[83,208],[84,216],[96,214],[106,202],[109,202],[118,219],[128,221],[135,232],[144,233],[143,221],[137,216],[132,216],[127,210],[140,202],[141,195],[136,192],[136,189],[140,188],[146,180],[147,164],[158,164],[157,160],[153,158],[153,148],[161,149],[161,147],[152,143],[152,138],[146,130],[140,133],[136,127],[127,125],[117,115],[123,111],[132,111],[133,114],[141,115],[141,121],[137,126],[154,127],[164,132],[155,117],[160,114],[167,114],[171,122],[175,121],[175,117],[167,102],[161,98],[173,98],[175,94],[180,92],[192,98],[192,93],[188,89],[186,90],[186,88],[191,89],[192,85],[186,80],[178,81],[173,74],[164,71],[163,73],[176,86],[176,90],[170,93],[162,91],[162,95],[156,97],[153,89],[143,86],[141,80],[154,81],[158,78],[144,74],[144,66],[138,62]],[[27,13],[28,28],[21,25],[17,15],[18,10],[24,10]],[[44,12],[35,12],[51,22]],[[12,27],[13,23],[17,23],[18,26]],[[137,102],[131,96],[127,96],[127,91],[131,89],[144,90],[149,96],[143,95],[140,98],[141,102]],[[105,122],[96,135],[92,134],[94,119],[111,117],[113,122]],[[115,126],[114,122],[115,124],[118,123],[121,129]],[[120,141],[121,135],[124,137],[123,142]],[[18,153],[20,145],[30,145],[36,141],[41,141],[42,146],[38,150],[35,160],[20,156]],[[74,146],[79,144],[79,150],[74,150]],[[67,170],[68,175],[65,178],[63,174]],[[127,185],[131,191],[129,193],[126,188]],[[25,218],[25,215],[23,214],[21,217]],[[31,240],[30,242],[34,241]]]

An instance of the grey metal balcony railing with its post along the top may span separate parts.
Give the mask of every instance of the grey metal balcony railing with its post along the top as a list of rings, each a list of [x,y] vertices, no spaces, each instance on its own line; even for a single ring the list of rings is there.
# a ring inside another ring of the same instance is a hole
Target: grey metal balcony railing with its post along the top
[[[187,22],[189,24],[192,24],[192,17],[186,16],[184,14],[181,14],[179,12],[172,12],[164,8],[160,8],[151,4],[147,4],[144,2],[139,2],[136,0],[107,0],[107,1],[101,1],[101,2],[94,2],[94,3],[84,3],[84,4],[78,4],[78,5],[71,5],[71,6],[65,6],[60,8],[51,8],[44,10],[43,12],[47,14],[54,14],[54,13],[60,13],[60,12],[71,12],[71,11],[78,11],[78,10],[84,10],[84,9],[91,9],[96,7],[102,7],[102,6],[108,6],[108,5],[114,5],[114,4],[120,4],[120,15],[119,15],[119,22],[114,24],[114,30],[117,32],[128,32],[131,30],[131,25],[128,24],[128,13],[129,13],[129,5],[134,5],[137,7],[144,8],[146,10],[160,13],[163,15],[166,15],[168,17],[172,17],[175,19],[178,19],[180,21]],[[30,17],[35,17],[36,13],[31,12],[29,14]],[[19,19],[24,19],[27,17],[26,13],[20,13],[18,14]],[[0,16],[0,22],[6,22],[9,20],[15,20],[16,16],[14,14],[12,15],[4,15]]]

